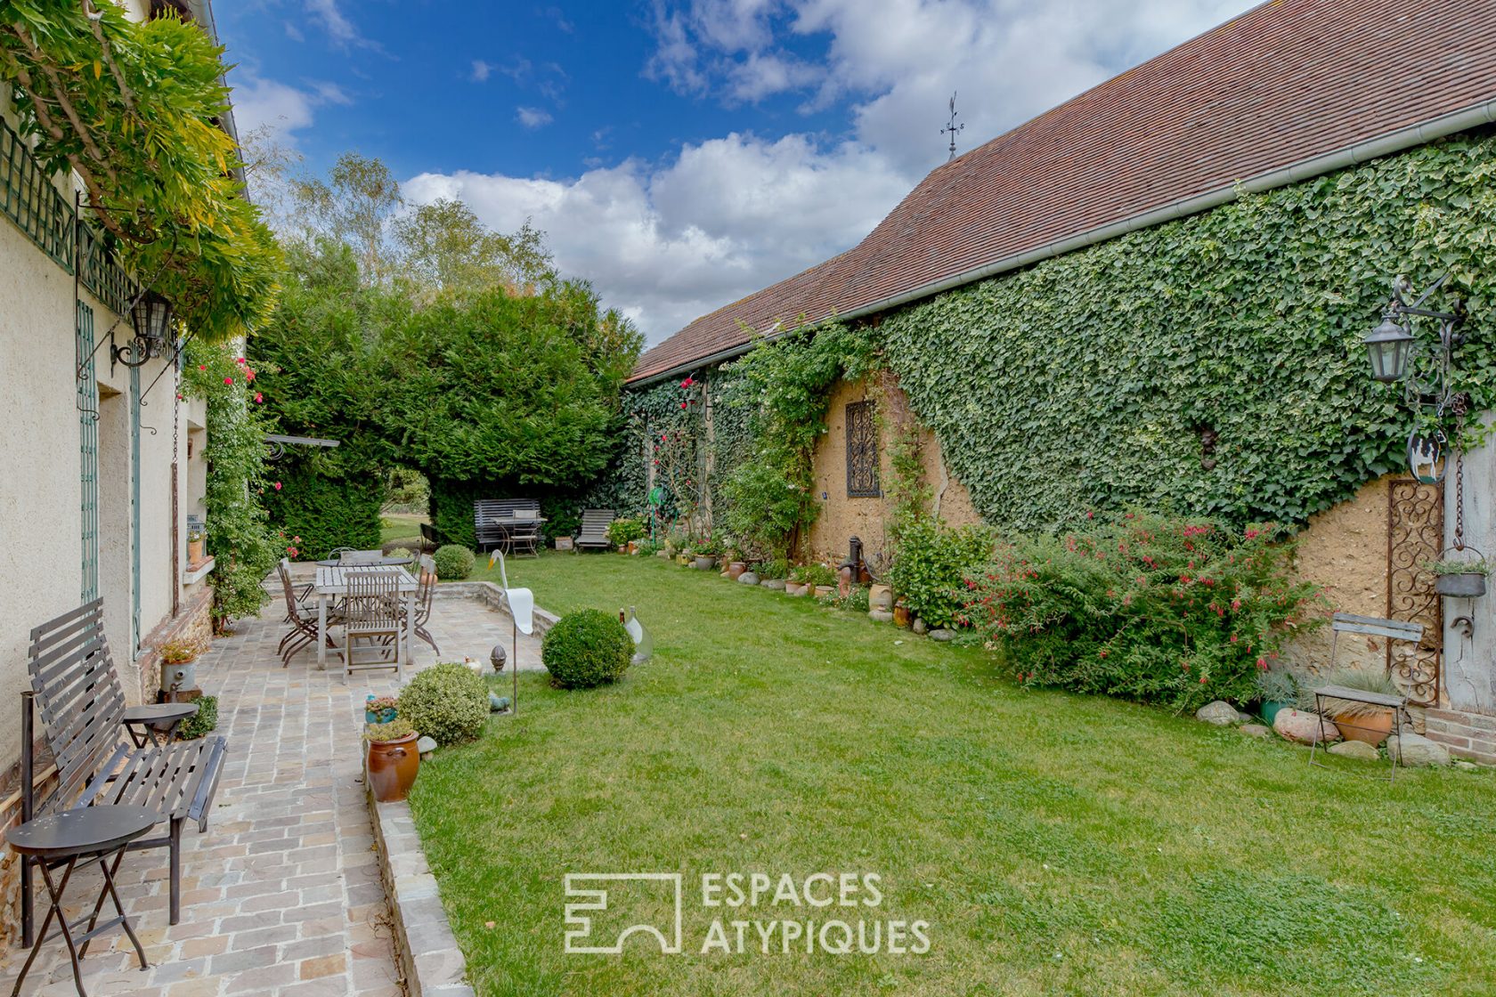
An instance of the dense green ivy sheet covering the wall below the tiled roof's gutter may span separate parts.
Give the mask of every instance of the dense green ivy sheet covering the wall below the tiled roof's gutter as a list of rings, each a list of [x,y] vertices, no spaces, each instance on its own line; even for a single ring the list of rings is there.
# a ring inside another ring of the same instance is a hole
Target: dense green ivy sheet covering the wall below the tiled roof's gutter
[[[901,309],[884,350],[990,523],[1134,505],[1302,523],[1402,463],[1412,416],[1361,348],[1393,275],[1454,269],[1457,366],[1492,407],[1492,218],[1496,139],[1457,138]]]

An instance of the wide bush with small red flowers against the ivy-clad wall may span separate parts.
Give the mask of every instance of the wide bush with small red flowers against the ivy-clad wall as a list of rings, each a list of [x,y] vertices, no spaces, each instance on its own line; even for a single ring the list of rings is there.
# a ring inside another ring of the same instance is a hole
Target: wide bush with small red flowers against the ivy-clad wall
[[[963,619],[1025,683],[1176,710],[1251,700],[1318,598],[1275,532],[1126,514],[1017,540],[968,575]]]

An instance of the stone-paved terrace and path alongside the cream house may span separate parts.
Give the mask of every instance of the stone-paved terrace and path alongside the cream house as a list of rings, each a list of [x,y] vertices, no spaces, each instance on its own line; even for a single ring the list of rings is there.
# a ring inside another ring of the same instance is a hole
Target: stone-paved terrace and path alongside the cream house
[[[118,883],[151,967],[136,969],[123,931],[84,960],[90,997],[401,997],[362,785],[362,703],[396,689],[392,671],[343,682],[329,655],[311,649],[281,668],[281,604],[214,640],[197,682],[218,697],[229,755],[208,833],[184,833],[183,916],[166,924],[166,849],[130,852]],[[473,599],[435,601],[429,628],[441,661],[488,658],[509,617]],[[522,668],[537,668],[539,641],[521,637]],[[437,661],[417,641],[416,668]],[[410,671],[407,670],[407,676]],[[97,874],[73,877],[67,895],[90,903]],[[40,892],[40,886],[39,886]],[[45,915],[39,901],[37,921]],[[0,960],[9,993],[25,952]],[[22,994],[76,994],[61,939],[48,940]]]

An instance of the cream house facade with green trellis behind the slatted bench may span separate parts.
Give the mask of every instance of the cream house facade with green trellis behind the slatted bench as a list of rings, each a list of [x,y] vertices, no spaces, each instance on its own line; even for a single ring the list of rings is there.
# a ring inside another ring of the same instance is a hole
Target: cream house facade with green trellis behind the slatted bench
[[[121,7],[135,21],[171,12],[212,30],[206,0]],[[0,84],[0,701],[13,720],[30,628],[82,602],[103,599],[130,703],[154,695],[156,647],[211,628],[214,564],[188,558],[188,526],[205,520],[203,402],[178,398],[174,344],[138,362],[139,275],[105,248],[87,197],[76,175],[43,172]],[[0,725],[7,824],[19,750],[19,723]],[[15,924],[12,859],[0,859],[0,931]]]

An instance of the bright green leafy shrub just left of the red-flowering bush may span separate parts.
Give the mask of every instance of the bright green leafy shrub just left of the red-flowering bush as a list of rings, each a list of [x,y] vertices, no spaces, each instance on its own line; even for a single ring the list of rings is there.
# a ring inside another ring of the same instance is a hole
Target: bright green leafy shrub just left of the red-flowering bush
[[[992,558],[992,534],[981,526],[950,529],[922,517],[910,522],[889,567],[889,584],[910,613],[931,628],[959,623],[963,580]]]

